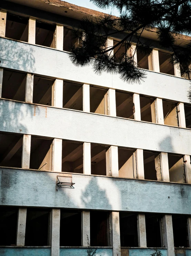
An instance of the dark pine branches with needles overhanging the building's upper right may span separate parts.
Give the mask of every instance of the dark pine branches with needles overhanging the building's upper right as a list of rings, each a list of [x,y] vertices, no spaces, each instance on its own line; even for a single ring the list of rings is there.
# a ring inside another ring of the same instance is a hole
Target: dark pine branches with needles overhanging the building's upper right
[[[70,46],[70,59],[75,65],[91,64],[97,74],[118,73],[126,82],[140,82],[145,78],[145,71],[137,68],[131,46],[134,43],[135,50],[149,56],[153,46],[141,35],[144,30],[156,29],[161,48],[171,53],[170,63],[190,77],[191,41],[177,45],[176,36],[191,35],[191,0],[90,1],[102,9],[116,8],[120,15],[85,17],[73,28],[78,41]],[[109,47],[109,37],[121,38],[121,41]]]

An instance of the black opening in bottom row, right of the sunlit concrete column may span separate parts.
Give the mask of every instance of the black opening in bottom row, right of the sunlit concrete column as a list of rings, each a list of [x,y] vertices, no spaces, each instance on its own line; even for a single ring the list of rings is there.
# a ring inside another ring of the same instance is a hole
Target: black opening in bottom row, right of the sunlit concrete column
[[[119,213],[121,247],[138,247],[136,213]]]

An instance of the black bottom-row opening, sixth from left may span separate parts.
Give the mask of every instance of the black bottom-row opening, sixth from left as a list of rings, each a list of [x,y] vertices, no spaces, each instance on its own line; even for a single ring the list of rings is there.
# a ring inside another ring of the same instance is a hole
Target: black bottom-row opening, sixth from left
[[[147,247],[163,247],[162,216],[145,213]]]

